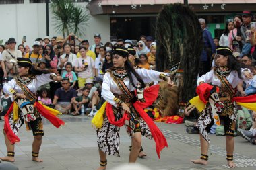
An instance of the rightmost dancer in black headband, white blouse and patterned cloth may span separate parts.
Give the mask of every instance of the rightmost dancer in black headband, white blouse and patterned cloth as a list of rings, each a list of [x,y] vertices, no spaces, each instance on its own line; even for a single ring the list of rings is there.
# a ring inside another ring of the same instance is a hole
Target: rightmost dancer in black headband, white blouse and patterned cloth
[[[251,78],[252,76],[249,69],[241,69],[238,60],[232,56],[232,50],[228,47],[219,46],[216,49],[214,60],[216,68],[197,79],[197,94],[201,101],[207,103],[209,96],[212,95],[214,91],[217,91],[218,93],[214,93],[214,103],[208,102],[209,104],[205,105],[205,109],[201,112],[201,115],[197,120],[196,127],[199,128],[200,132],[201,157],[200,159],[191,161],[195,164],[207,165],[210,142],[207,132],[215,122],[212,115],[217,114],[219,119],[216,119],[216,121],[223,120],[224,122],[224,131],[226,134],[226,160],[228,166],[233,168],[235,167],[233,153],[234,129],[236,126],[237,114],[237,105],[236,102],[233,102],[233,99],[236,98],[234,96],[236,95],[236,87],[238,83],[241,82],[243,77]],[[207,96],[205,94],[209,95]],[[243,103],[243,101],[239,102]],[[212,110],[211,108],[216,108],[216,110]]]

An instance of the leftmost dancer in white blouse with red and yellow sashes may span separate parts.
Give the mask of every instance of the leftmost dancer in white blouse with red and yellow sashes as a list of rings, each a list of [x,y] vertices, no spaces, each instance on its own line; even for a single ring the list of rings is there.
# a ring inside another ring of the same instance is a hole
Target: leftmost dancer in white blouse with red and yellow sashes
[[[42,136],[44,135],[42,116],[48,119],[55,127],[59,128],[65,123],[57,118],[59,112],[38,103],[36,92],[38,87],[51,81],[61,81],[61,76],[53,73],[42,74],[32,68],[29,58],[17,58],[18,77],[6,83],[3,87],[4,93],[13,95],[15,101],[9,108],[4,126],[5,144],[7,156],[1,157],[2,161],[14,162],[14,146],[20,142],[16,135],[22,124],[26,122],[27,130],[32,130],[34,142],[32,144],[32,161],[42,162],[39,159]]]

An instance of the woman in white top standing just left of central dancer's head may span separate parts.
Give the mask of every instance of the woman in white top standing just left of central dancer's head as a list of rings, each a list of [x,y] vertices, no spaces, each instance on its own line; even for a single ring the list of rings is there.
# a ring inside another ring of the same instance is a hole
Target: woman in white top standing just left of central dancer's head
[[[103,63],[105,60],[106,48],[100,46],[100,56],[95,60],[94,75],[103,79],[104,73],[102,71]]]

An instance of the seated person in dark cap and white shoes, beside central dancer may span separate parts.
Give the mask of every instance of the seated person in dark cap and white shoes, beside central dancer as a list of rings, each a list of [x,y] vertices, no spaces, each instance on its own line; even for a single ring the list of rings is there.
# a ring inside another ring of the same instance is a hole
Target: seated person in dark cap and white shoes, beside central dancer
[[[86,83],[86,87],[91,87],[88,97],[90,97],[90,101],[92,101],[92,111],[88,116],[94,116],[98,111],[97,108],[100,108],[100,103],[103,103],[103,99],[101,97],[102,82],[103,81],[100,77],[94,77],[93,81],[91,80],[91,82],[88,81]]]

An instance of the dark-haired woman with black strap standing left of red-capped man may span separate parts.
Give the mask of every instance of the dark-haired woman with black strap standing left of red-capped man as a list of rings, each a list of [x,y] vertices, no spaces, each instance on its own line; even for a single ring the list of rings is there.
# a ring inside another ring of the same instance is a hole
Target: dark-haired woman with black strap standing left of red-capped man
[[[228,40],[229,40],[229,47],[233,50],[234,52],[239,52],[241,53],[242,49],[242,38],[241,38],[241,25],[243,24],[242,22],[242,17],[240,15],[234,16],[234,26],[235,28],[231,30],[228,34]]]

